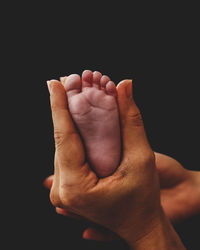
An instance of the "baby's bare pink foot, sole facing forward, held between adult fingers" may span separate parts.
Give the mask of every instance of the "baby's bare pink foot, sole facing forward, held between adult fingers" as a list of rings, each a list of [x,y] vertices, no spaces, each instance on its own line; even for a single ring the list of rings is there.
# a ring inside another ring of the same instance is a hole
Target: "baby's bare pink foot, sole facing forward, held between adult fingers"
[[[111,175],[121,155],[115,84],[100,72],[85,70],[66,77],[69,110],[83,138],[87,158],[99,177]]]

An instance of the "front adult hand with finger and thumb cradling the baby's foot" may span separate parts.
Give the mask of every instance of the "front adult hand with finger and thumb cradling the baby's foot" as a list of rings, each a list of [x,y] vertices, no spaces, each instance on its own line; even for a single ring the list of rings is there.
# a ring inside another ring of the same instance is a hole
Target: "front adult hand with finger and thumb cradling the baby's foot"
[[[62,84],[51,81],[49,90],[56,147],[52,204],[113,231],[130,249],[184,249],[161,208],[155,155],[132,98],[131,81],[118,86],[122,161],[103,179],[86,160]]]

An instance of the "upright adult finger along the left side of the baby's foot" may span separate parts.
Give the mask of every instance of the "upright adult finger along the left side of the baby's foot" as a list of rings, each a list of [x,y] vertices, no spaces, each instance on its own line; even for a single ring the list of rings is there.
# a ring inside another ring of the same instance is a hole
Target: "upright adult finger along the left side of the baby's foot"
[[[85,162],[85,154],[80,136],[67,108],[67,97],[63,85],[55,80],[48,83],[54,125],[57,161],[60,171],[76,170]],[[66,173],[65,173],[66,174]],[[67,176],[60,172],[60,176]]]

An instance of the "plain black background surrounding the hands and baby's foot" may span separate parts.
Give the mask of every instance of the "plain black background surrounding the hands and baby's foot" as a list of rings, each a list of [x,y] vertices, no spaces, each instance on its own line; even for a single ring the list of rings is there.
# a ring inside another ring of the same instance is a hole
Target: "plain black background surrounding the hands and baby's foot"
[[[136,78],[134,97],[152,148],[200,170],[195,10],[75,2],[5,6],[2,249],[13,249],[10,243],[20,249],[127,249],[123,242],[82,240],[86,225],[57,215],[49,202],[42,185],[53,171],[54,153],[46,80],[84,69],[108,74],[115,83]],[[188,249],[200,249],[199,225],[196,216],[176,227]]]

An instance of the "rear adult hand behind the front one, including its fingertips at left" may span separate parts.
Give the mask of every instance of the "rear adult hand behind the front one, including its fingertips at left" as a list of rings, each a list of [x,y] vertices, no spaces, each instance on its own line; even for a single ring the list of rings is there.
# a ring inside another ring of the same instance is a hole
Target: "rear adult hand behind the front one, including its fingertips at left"
[[[160,181],[160,196],[163,210],[170,221],[175,224],[200,213],[200,172],[190,171],[175,159],[160,153],[155,153],[156,168]],[[49,176],[44,185],[51,189],[53,175]],[[57,213],[82,219],[69,214],[64,209],[57,208]],[[88,240],[110,241],[118,239],[112,232],[99,226],[89,227],[83,237]]]

